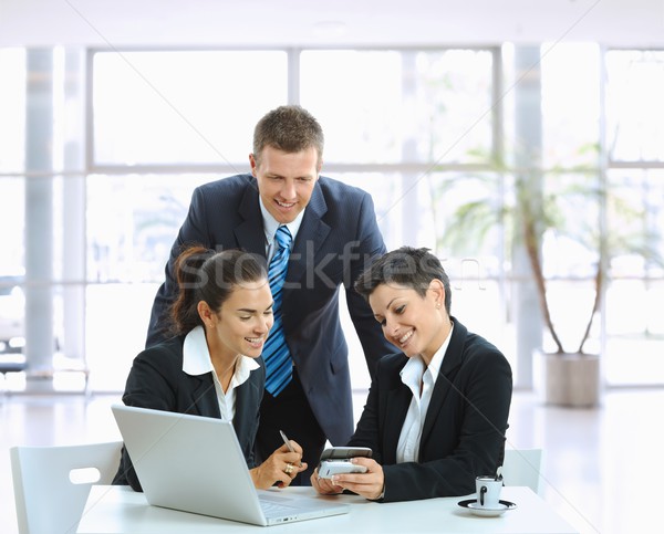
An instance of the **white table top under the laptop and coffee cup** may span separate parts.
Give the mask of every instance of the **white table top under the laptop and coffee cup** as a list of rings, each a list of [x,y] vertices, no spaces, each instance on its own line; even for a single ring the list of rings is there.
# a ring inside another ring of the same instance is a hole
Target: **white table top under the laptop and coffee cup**
[[[313,493],[311,488],[288,488],[287,492]],[[351,511],[311,521],[277,526],[253,526],[205,515],[151,506],[143,493],[128,486],[92,486],[79,533],[315,533],[315,534],[388,534],[388,533],[511,533],[572,534],[575,528],[563,521],[529,488],[504,488],[500,499],[517,504],[498,517],[478,517],[458,502],[468,498],[429,499],[402,503],[374,503],[357,495],[339,495],[351,504]]]

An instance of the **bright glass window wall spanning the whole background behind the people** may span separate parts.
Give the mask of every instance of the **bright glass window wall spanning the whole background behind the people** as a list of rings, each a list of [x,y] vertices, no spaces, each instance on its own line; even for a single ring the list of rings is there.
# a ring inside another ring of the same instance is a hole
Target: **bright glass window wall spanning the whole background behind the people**
[[[76,54],[87,60],[80,78],[69,63]],[[256,122],[288,102],[324,128],[323,174],[372,195],[388,249],[434,250],[452,279],[453,313],[518,368],[509,208],[519,171],[516,87],[528,78],[515,72],[513,46],[55,49],[52,166],[37,172],[25,171],[34,142],[29,55],[0,50],[0,223],[10,229],[0,250],[0,328],[24,335],[25,262],[40,250],[27,247],[27,232],[45,217],[48,231],[37,235],[50,235],[52,274],[28,285],[49,287],[56,369],[86,367],[93,389],[123,389],[193,189],[248,171]],[[542,184],[563,200],[558,216],[570,230],[544,242],[553,311],[566,335],[577,336],[592,304],[592,240],[604,229],[612,245],[606,313],[591,345],[605,344],[612,385],[664,384],[656,313],[664,291],[663,62],[657,51],[557,43],[541,48],[537,64]],[[73,128],[76,121],[85,128]],[[604,186],[604,203],[583,193]],[[35,209],[44,199],[48,213]],[[477,224],[455,235],[450,222],[468,207]],[[579,302],[579,316],[563,312],[569,300]],[[347,317],[344,326],[353,386],[364,388]],[[20,339],[12,343],[20,353]]]

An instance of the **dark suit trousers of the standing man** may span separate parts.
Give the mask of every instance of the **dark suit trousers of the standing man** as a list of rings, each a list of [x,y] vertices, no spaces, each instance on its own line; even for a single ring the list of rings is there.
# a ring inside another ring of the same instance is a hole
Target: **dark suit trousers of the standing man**
[[[311,485],[309,480],[325,447],[323,433],[309,406],[300,377],[293,367],[293,379],[277,397],[264,392],[260,405],[260,423],[256,436],[257,465],[283,444],[279,430],[297,441],[304,451],[302,461],[309,464],[291,485]]]

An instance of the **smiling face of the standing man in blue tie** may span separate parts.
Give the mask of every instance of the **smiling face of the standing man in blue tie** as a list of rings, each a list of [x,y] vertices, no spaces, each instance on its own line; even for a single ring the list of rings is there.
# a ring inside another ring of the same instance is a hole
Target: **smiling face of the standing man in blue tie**
[[[317,149],[284,153],[267,146],[258,160],[251,154],[249,161],[268,211],[282,224],[292,222],[307,208],[319,178]]]

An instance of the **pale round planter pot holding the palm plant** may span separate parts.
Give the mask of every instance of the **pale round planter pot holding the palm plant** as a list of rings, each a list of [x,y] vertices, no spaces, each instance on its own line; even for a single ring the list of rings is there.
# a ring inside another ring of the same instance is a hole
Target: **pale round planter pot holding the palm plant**
[[[600,402],[600,357],[591,354],[544,354],[544,401],[592,407]]]

